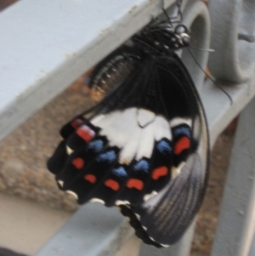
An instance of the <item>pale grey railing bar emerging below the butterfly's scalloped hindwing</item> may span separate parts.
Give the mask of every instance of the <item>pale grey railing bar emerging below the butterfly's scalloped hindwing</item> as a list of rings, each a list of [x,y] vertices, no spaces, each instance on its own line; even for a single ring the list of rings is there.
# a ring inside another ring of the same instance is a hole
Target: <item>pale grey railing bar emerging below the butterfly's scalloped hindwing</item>
[[[87,203],[37,253],[37,256],[115,255],[133,235],[116,208]]]

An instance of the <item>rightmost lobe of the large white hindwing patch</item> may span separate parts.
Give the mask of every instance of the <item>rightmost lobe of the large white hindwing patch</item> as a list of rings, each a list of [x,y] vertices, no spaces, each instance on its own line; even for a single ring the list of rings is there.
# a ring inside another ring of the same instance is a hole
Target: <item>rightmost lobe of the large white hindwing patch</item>
[[[167,119],[157,116],[155,119],[155,140],[159,141],[163,138],[171,140],[172,133]]]

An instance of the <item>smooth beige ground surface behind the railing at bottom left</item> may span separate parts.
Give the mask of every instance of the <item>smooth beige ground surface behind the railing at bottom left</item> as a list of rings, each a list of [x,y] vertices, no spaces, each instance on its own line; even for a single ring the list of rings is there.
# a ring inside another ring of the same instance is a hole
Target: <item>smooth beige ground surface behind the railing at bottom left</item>
[[[0,247],[26,255],[35,255],[72,215],[15,196],[0,194],[0,202]],[[116,256],[137,256],[140,244],[132,236]]]

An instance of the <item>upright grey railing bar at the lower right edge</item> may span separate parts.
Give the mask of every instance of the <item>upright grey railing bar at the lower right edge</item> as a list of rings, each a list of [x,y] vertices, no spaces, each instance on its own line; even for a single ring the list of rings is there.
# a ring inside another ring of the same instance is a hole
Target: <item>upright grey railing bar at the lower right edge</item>
[[[239,117],[212,256],[248,256],[252,246],[255,230],[254,113],[255,98]]]

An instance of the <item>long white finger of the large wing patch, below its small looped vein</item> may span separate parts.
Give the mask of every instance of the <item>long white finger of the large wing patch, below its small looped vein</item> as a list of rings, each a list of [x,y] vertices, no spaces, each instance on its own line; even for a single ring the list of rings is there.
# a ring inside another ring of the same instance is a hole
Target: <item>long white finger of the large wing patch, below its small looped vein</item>
[[[154,147],[154,134],[155,134],[155,123],[152,122],[143,128],[143,132],[141,134],[141,139],[139,143],[139,148],[137,150],[137,154],[135,159],[139,161],[143,157],[150,158],[153,147]]]

